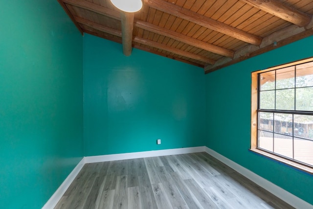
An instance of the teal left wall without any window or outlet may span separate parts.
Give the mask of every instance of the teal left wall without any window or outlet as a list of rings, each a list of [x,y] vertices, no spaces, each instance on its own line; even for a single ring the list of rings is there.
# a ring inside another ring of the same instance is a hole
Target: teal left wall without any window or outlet
[[[0,208],[39,209],[83,156],[83,37],[56,0],[0,8]]]

